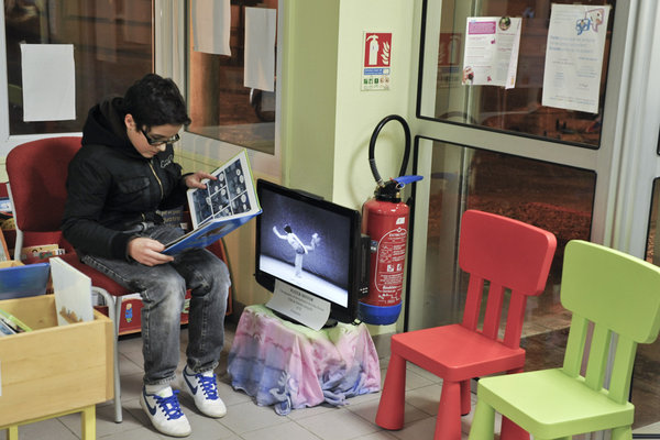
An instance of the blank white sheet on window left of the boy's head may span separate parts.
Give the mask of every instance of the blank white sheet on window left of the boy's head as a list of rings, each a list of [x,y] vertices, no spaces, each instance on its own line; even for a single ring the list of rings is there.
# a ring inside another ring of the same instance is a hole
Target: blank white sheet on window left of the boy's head
[[[73,44],[21,44],[23,120],[76,119]]]

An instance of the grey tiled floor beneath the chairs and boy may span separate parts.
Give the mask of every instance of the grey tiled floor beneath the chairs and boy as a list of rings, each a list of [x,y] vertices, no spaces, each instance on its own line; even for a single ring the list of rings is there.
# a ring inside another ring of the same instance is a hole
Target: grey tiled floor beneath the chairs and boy
[[[185,365],[185,342],[187,330],[182,332],[182,361]],[[226,351],[231,346],[233,331],[228,322]],[[382,376],[385,377],[389,342],[386,337],[375,339],[381,358]],[[142,340],[140,337],[122,338],[119,342],[120,372],[122,382],[123,422],[113,421],[113,407],[110,403],[97,407],[97,437],[105,440],[148,440],[169,439],[160,435],[143,414],[139,393],[142,386]],[[223,353],[222,362],[227,361]],[[200,440],[420,440],[432,439],[435,414],[441,389],[441,381],[418,369],[408,366],[406,393],[406,424],[399,431],[386,431],[374,424],[380,394],[370,394],[350,399],[350,405],[341,408],[318,406],[296,409],[288,416],[278,416],[270,407],[258,407],[242,392],[229,385],[226,364],[218,369],[220,396],[228,406],[228,415],[221,419],[200,416],[193,402],[182,393],[184,411],[193,426],[188,439]],[[30,396],[29,398],[38,398]],[[474,396],[473,396],[474,404]],[[463,439],[468,438],[471,416],[463,417]],[[656,430],[657,431],[657,430]],[[75,440],[80,438],[80,417],[70,415],[19,429],[21,440]],[[0,432],[6,440],[6,432]]]

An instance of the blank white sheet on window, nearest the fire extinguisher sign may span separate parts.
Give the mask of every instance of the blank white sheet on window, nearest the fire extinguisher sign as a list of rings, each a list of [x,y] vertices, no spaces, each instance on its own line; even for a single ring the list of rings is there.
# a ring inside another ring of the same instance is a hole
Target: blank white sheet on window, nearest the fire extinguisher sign
[[[245,75],[243,86],[275,91],[277,11],[245,8]]]

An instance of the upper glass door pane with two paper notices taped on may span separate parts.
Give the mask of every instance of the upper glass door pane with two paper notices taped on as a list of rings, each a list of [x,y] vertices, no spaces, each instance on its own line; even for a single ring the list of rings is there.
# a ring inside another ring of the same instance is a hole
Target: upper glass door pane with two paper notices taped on
[[[422,82],[431,85],[430,87],[435,84],[436,94],[419,95],[419,108],[433,109],[421,111],[421,117],[598,147],[614,7],[607,22],[598,112],[586,113],[541,106],[551,3],[574,2],[426,0],[425,45],[438,47],[438,52],[422,55],[426,67],[422,72],[427,76],[436,75],[435,81],[425,78]],[[615,2],[585,0],[580,3],[595,7]],[[515,88],[462,85],[465,24],[469,16],[522,19]],[[432,67],[433,63],[437,63],[437,69]]]

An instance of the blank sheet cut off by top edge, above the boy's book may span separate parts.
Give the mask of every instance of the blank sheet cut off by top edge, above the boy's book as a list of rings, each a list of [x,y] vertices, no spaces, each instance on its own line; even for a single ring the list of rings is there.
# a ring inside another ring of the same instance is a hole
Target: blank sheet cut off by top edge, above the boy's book
[[[193,0],[193,51],[231,56],[230,0]]]

